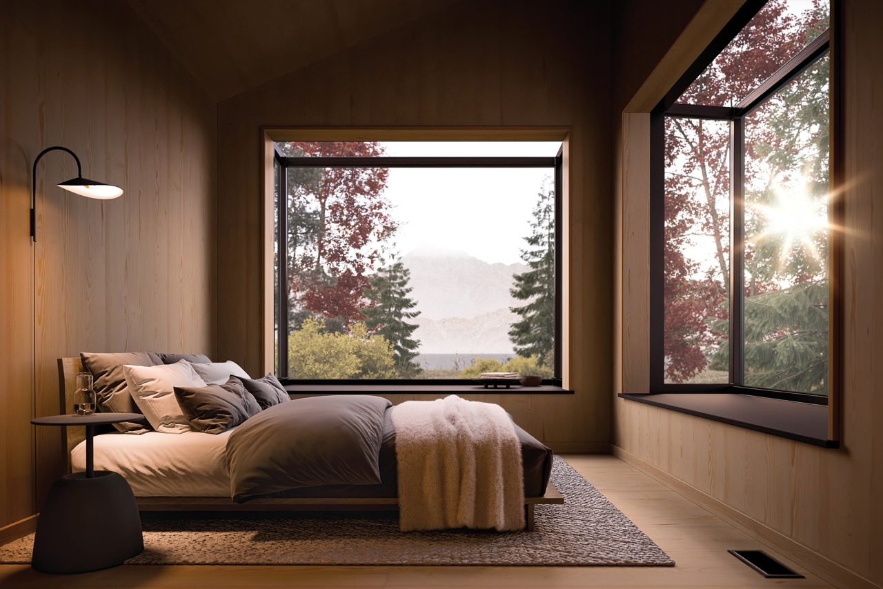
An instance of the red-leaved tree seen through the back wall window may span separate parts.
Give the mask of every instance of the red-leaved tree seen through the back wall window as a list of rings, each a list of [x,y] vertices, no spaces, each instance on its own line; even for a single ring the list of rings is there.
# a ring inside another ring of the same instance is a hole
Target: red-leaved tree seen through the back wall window
[[[371,157],[373,141],[290,141],[288,155]],[[384,168],[291,168],[288,211],[291,318],[307,311],[339,318],[344,328],[364,319],[367,275],[380,244],[397,228],[392,205],[383,196]]]

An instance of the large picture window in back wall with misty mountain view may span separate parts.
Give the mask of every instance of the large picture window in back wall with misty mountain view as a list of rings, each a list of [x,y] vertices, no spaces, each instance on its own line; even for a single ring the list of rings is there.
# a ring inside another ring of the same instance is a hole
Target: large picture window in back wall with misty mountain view
[[[275,142],[287,381],[560,384],[561,141]]]

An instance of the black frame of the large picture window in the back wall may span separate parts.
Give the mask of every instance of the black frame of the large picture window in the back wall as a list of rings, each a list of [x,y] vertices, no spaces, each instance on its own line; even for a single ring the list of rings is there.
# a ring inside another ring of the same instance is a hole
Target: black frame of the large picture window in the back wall
[[[490,143],[491,141],[485,141]],[[288,174],[289,168],[547,168],[553,173],[553,181],[555,184],[555,376],[551,379],[543,379],[542,384],[552,387],[562,386],[562,268],[563,268],[563,143],[558,149],[555,156],[536,156],[536,157],[482,157],[482,156],[464,156],[464,157],[292,157],[284,155],[279,146],[278,141],[274,141],[274,175],[277,170],[281,169],[278,178],[278,185],[274,189],[278,191],[282,198],[288,194]],[[279,168],[277,168],[277,166]],[[275,184],[275,183],[274,183]],[[284,236],[288,233],[287,215],[278,214],[278,206],[280,200],[275,201],[274,215],[276,224],[276,234],[274,241],[276,244],[281,243]],[[451,386],[470,386],[474,387],[474,382],[468,379],[291,379],[288,377],[287,362],[283,359],[288,357],[288,336],[289,326],[287,322],[281,321],[281,318],[288,316],[288,296],[285,289],[287,280],[279,279],[286,276],[286,268],[288,268],[287,248],[278,248],[276,255],[275,276],[276,283],[274,288],[274,306],[276,307],[275,325],[275,341],[276,353],[273,359],[275,374],[279,376],[279,380],[283,385],[347,385],[358,389],[361,386],[383,386],[383,385],[444,385]],[[495,389],[496,391],[508,391],[508,389]]]

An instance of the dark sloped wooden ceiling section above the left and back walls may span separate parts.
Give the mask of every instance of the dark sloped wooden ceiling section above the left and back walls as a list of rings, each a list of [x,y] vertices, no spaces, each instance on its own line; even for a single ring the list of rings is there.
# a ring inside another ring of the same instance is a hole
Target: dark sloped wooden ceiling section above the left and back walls
[[[461,0],[128,0],[222,101]]]

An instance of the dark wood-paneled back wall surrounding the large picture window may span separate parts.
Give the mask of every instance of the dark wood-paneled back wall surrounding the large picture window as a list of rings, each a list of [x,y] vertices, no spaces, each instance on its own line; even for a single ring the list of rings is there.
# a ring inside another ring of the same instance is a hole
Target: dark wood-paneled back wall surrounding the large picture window
[[[556,449],[604,449],[610,427],[609,3],[453,5],[218,105],[218,354],[268,370],[261,126],[570,127],[568,384],[502,396]],[[442,206],[440,204],[440,206]],[[452,238],[456,238],[453,235]]]

